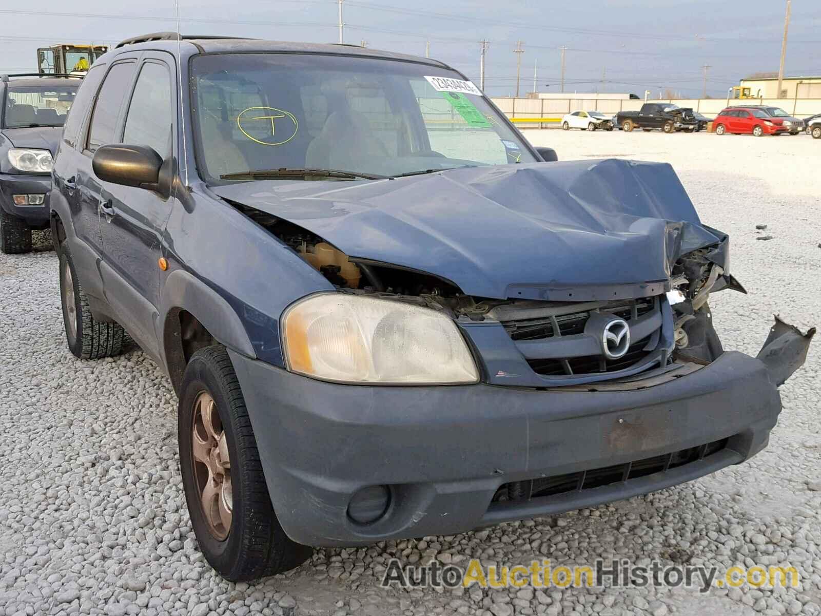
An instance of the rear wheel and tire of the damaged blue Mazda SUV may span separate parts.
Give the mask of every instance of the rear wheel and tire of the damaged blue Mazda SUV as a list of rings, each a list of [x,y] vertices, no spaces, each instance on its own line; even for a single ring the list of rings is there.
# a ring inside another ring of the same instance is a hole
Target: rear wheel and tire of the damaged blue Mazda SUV
[[[117,356],[128,347],[130,338],[122,325],[94,319],[77,278],[74,261],[66,246],[60,251],[60,303],[69,350],[80,359],[101,359]]]

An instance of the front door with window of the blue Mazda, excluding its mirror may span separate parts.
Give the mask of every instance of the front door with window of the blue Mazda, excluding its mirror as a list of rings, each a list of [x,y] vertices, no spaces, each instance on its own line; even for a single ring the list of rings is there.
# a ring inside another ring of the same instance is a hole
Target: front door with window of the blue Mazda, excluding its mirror
[[[172,160],[176,141],[174,90],[162,52],[145,53],[133,91],[123,106],[116,141],[148,145]],[[154,319],[159,305],[158,259],[172,200],[158,192],[101,182],[103,283],[122,325],[149,354],[158,356]]]

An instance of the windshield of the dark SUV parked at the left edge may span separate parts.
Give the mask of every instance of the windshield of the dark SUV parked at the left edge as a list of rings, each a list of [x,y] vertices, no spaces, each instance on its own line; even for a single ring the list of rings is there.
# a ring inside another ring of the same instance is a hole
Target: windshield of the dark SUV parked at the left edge
[[[5,128],[62,126],[77,93],[76,85],[47,88],[11,85],[3,114]]]

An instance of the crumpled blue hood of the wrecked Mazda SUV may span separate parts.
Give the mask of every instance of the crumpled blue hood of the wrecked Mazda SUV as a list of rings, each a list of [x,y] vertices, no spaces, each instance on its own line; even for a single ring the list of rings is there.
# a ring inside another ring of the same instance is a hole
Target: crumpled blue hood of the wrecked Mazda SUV
[[[435,274],[477,297],[655,294],[680,255],[722,240],[701,225],[666,163],[529,163],[213,191],[314,232],[352,260]]]

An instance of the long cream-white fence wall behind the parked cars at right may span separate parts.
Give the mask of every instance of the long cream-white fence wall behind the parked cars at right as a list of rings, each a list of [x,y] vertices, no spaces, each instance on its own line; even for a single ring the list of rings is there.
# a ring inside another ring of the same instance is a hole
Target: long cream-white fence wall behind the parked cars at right
[[[518,126],[550,126],[555,125],[565,113],[573,111],[600,111],[602,113],[618,113],[620,111],[638,111],[644,100],[606,100],[606,99],[511,99],[492,98],[493,103],[510,118],[518,118]],[[705,116],[713,117],[725,107],[743,105],[773,105],[780,107],[796,117],[806,117],[821,113],[821,98],[819,99],[649,99],[649,103],[675,103],[679,107],[691,107]],[[525,118],[534,119],[534,122],[523,122]],[[540,121],[539,121],[540,120]]]

